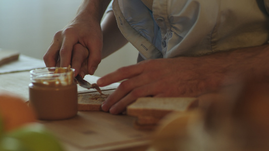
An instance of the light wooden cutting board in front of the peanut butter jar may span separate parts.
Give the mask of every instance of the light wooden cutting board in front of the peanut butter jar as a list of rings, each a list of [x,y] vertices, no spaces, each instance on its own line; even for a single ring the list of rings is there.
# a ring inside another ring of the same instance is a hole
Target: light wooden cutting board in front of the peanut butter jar
[[[152,131],[134,129],[134,120],[127,115],[80,111],[69,120],[41,123],[61,140],[68,151],[144,150],[150,143]]]

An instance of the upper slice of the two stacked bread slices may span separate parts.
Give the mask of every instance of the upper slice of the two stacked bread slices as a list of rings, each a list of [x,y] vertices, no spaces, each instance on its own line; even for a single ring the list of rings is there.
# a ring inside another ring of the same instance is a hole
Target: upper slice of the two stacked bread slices
[[[127,115],[162,118],[170,112],[184,112],[198,107],[197,98],[139,98],[127,107]]]

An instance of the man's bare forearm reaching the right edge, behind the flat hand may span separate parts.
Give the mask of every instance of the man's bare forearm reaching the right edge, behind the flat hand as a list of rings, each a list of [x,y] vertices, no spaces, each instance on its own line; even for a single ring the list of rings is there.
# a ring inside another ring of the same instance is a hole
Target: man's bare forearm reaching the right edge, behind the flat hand
[[[222,80],[222,85],[243,82],[245,79],[252,81],[267,81],[269,77],[269,45],[236,49],[226,52],[214,53],[198,57],[203,65],[211,67],[212,82],[220,83],[218,77]],[[211,65],[210,65],[210,62]],[[216,81],[215,81],[216,80]]]

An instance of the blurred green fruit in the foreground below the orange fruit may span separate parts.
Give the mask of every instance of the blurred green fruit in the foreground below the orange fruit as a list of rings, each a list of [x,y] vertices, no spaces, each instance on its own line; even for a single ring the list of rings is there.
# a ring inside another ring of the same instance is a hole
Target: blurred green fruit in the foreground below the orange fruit
[[[20,140],[31,151],[64,150],[60,142],[39,123],[23,126],[7,135]]]

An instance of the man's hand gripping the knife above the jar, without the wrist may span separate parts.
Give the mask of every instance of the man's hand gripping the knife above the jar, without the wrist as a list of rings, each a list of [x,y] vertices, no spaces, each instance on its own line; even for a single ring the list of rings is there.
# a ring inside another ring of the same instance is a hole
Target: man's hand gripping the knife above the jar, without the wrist
[[[46,66],[68,66],[72,63],[72,68],[76,69],[75,74],[80,72],[84,77],[87,73],[94,73],[101,60],[101,49],[102,33],[99,23],[76,20],[55,34],[44,55],[44,61]],[[83,63],[88,68],[81,68]]]

